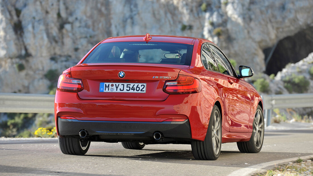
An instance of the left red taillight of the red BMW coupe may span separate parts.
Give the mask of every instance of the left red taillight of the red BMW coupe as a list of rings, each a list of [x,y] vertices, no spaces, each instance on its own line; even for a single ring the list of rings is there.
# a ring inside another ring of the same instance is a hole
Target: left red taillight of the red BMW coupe
[[[71,73],[63,73],[59,77],[57,90],[64,92],[80,92],[83,89],[84,86],[81,79],[72,78]]]

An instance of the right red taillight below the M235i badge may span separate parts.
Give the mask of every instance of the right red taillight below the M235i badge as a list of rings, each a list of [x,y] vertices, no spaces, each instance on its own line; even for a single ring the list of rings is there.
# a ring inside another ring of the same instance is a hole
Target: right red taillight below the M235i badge
[[[178,75],[174,81],[166,81],[163,91],[168,94],[198,93],[201,91],[201,83],[197,78]]]

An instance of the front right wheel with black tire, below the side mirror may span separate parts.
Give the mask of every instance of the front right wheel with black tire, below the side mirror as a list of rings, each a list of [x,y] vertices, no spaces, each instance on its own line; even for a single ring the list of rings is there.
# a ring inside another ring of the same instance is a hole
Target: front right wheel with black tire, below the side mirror
[[[259,119],[258,119],[259,118]],[[249,141],[237,142],[237,147],[242,153],[259,153],[264,140],[263,110],[258,105],[253,119],[253,131]]]

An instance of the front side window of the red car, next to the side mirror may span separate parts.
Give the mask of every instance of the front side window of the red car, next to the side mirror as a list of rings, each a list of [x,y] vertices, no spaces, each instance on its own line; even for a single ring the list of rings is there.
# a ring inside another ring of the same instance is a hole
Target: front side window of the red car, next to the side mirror
[[[215,58],[217,64],[218,64],[218,68],[219,71],[221,73],[224,74],[228,74],[230,76],[234,76],[233,75],[233,71],[232,68],[230,66],[230,63],[228,62],[228,60],[225,58],[225,56],[223,55],[223,53],[221,53],[218,48],[210,45],[211,48],[211,52],[213,54],[213,57]]]

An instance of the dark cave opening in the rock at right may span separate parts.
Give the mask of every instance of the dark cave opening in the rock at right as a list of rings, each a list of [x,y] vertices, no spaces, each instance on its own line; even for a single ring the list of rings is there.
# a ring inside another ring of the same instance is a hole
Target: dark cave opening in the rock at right
[[[296,63],[313,52],[313,27],[281,39],[274,46],[265,48],[265,73],[281,71],[288,63]]]

